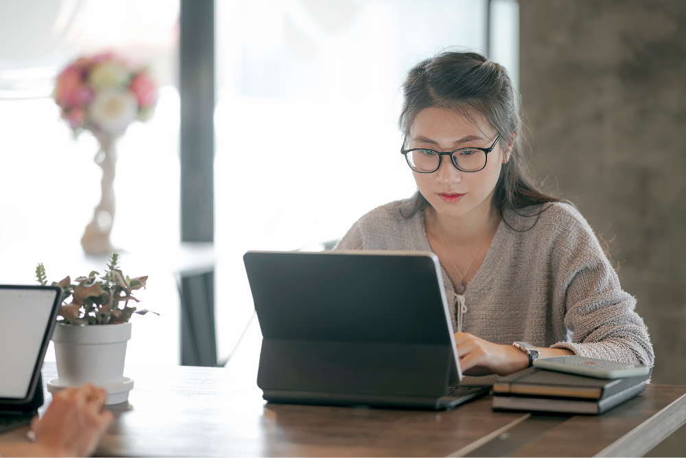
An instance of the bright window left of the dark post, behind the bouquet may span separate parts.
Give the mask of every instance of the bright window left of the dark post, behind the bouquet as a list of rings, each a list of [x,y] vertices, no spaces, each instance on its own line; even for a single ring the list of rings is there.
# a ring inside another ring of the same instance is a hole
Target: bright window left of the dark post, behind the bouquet
[[[118,144],[113,243],[129,253],[151,240],[178,244],[178,12],[174,0],[0,2],[0,37],[11,38],[0,38],[0,282],[32,284],[38,262],[49,281],[88,273],[80,238],[100,199],[97,141],[75,141],[49,94],[69,61],[102,49],[151,62],[161,85],[154,119],[132,124]],[[140,299],[164,319],[137,320],[127,361],[178,364],[173,279],[152,275],[149,286]]]

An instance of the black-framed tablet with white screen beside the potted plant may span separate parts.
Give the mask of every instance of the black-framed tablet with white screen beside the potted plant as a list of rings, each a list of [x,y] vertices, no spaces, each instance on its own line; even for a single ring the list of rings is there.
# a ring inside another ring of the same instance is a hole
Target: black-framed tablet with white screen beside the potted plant
[[[43,405],[40,367],[62,302],[58,286],[0,285],[0,433]]]

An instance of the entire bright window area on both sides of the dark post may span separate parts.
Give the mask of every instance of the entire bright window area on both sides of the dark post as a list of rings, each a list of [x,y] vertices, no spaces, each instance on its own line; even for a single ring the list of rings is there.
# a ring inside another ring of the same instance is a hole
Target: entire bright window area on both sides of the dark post
[[[411,196],[399,154],[401,83],[444,49],[485,52],[516,79],[517,3],[487,0],[216,0],[215,244],[220,359],[252,314],[242,255],[317,249],[378,205]],[[99,201],[97,143],[74,140],[49,98],[69,60],[119,49],[152,62],[156,115],[119,141],[113,243],[179,240],[178,0],[0,3],[0,276],[74,275],[66,257]],[[11,14],[10,14],[11,13]],[[6,37],[3,39],[2,37]],[[488,38],[488,39],[487,39]],[[368,153],[366,165],[351,148]],[[126,253],[123,257],[126,269]],[[133,275],[154,274],[150,271]],[[178,295],[151,276],[128,363],[178,364]],[[163,336],[163,338],[161,337]],[[48,358],[52,353],[49,352]]]

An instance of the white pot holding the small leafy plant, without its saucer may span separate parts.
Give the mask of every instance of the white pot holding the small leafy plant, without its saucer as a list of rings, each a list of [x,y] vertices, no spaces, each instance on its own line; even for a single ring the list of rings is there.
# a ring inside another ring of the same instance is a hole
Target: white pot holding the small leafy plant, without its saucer
[[[58,323],[52,334],[57,374],[63,387],[115,385],[123,381],[126,342],[131,323],[69,325]]]

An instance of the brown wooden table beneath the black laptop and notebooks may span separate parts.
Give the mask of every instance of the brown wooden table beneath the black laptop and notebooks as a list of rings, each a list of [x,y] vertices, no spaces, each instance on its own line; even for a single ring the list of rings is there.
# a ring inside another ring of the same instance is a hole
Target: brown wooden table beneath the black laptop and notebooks
[[[686,421],[686,386],[675,385],[648,385],[600,416],[493,412],[490,396],[448,412],[266,404],[260,338],[255,324],[226,368],[126,367],[135,386],[111,408],[97,455],[641,456]],[[56,376],[46,363],[44,382]]]

